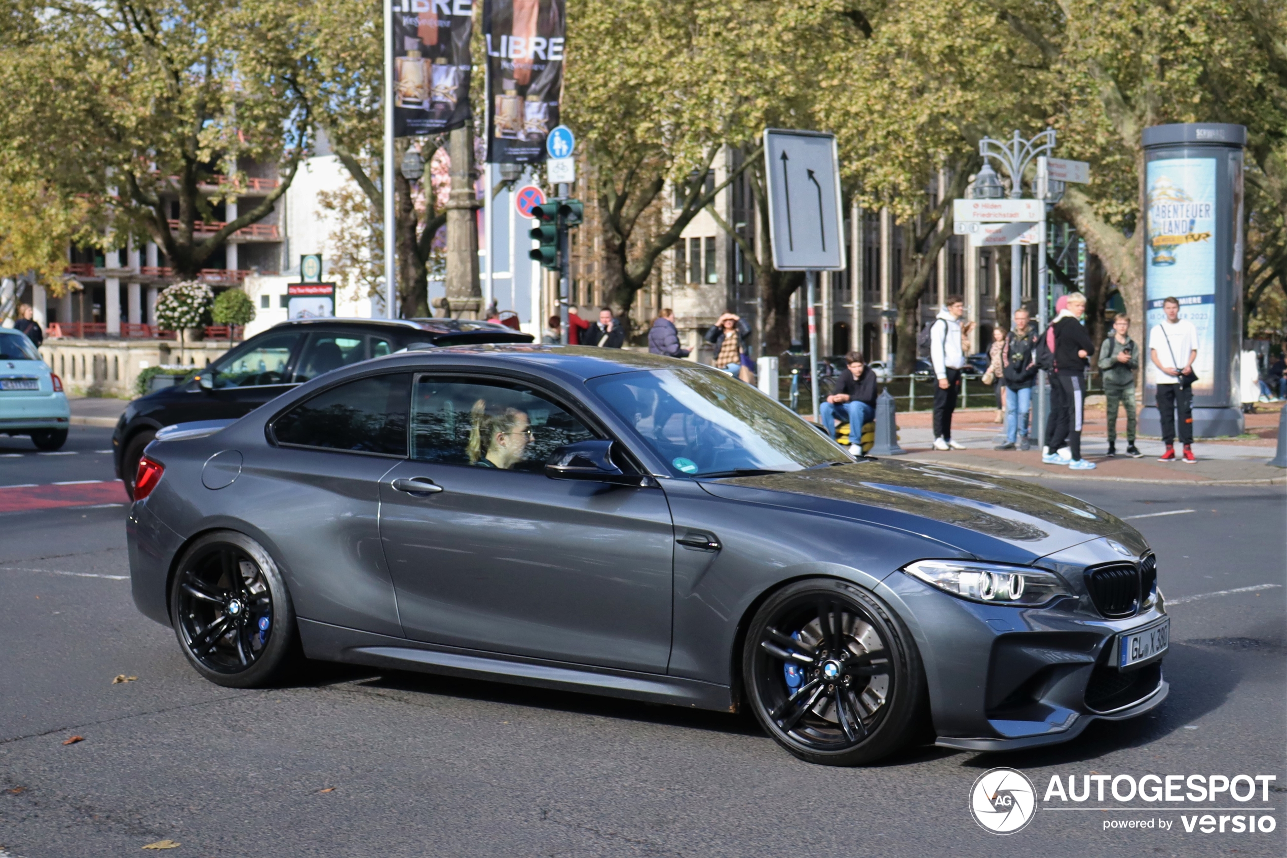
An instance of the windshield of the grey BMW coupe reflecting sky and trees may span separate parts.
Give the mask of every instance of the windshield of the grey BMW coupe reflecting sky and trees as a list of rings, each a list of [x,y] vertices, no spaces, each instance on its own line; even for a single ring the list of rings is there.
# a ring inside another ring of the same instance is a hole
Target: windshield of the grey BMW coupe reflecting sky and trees
[[[740,476],[851,462],[785,406],[731,376],[694,367],[589,382],[676,476]]]

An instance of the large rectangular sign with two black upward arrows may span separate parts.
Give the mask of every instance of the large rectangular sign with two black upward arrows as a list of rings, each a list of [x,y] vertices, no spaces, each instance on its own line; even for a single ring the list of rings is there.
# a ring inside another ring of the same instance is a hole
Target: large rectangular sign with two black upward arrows
[[[768,234],[780,271],[844,269],[844,221],[835,136],[764,130]]]

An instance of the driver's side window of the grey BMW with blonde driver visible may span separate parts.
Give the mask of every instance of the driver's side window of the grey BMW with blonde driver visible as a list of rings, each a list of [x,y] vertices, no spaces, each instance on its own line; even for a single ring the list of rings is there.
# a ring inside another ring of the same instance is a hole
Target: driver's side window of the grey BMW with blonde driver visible
[[[543,473],[564,444],[597,435],[525,385],[421,376],[412,396],[412,458]]]

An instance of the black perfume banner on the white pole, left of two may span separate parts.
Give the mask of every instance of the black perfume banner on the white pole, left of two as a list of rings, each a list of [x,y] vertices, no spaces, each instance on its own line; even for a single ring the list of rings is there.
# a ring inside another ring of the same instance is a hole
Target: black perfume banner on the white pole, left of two
[[[423,136],[470,120],[470,0],[394,4],[394,135]]]

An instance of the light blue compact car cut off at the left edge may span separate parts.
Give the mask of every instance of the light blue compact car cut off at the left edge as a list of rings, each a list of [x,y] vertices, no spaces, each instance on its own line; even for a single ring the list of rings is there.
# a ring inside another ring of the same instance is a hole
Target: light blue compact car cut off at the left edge
[[[30,435],[41,450],[67,443],[71,406],[62,379],[27,334],[0,328],[0,432]]]

